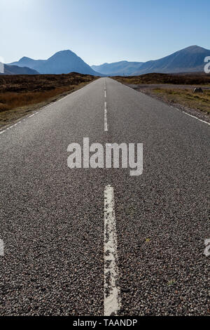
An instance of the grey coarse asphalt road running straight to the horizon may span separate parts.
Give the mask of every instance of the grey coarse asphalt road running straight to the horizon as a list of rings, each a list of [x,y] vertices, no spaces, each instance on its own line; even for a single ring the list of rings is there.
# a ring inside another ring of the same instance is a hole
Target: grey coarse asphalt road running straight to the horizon
[[[0,315],[209,315],[208,124],[102,78],[0,133]],[[143,143],[142,175],[69,169],[87,137]]]

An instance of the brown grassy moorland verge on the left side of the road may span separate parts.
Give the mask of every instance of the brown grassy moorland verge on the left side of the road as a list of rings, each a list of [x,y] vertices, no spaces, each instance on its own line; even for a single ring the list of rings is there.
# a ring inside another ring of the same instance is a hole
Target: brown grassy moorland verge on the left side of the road
[[[76,91],[94,79],[97,77],[77,73],[1,76],[0,128]]]

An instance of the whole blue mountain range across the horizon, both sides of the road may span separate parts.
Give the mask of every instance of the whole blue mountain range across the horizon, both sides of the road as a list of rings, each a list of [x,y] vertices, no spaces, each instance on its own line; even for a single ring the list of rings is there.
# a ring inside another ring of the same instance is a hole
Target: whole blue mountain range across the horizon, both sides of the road
[[[159,60],[148,62],[120,61],[103,65],[87,65],[72,51],[59,51],[48,60],[23,57],[18,62],[5,65],[5,74],[67,74],[78,72],[94,76],[135,76],[147,73],[203,72],[208,49],[190,46]]]

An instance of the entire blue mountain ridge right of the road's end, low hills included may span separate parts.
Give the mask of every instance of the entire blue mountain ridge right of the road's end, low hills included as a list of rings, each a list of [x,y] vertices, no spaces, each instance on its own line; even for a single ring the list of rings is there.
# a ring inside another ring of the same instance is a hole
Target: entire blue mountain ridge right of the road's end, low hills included
[[[104,63],[103,65],[92,65],[93,70],[109,76],[127,75],[136,76],[146,73],[181,73],[181,72],[203,72],[204,58],[210,56],[208,49],[199,46],[190,46],[181,51],[176,51],[172,55],[142,62],[115,62]]]

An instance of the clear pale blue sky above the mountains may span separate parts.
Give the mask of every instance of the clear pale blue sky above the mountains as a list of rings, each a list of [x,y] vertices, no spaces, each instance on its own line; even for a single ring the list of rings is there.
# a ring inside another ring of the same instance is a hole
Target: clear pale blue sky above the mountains
[[[70,49],[89,65],[210,49],[210,0],[0,0],[0,57]]]

